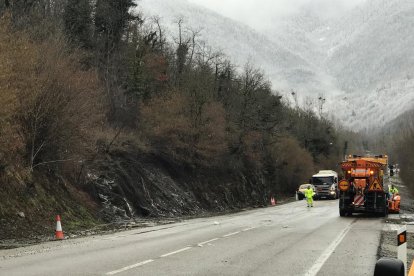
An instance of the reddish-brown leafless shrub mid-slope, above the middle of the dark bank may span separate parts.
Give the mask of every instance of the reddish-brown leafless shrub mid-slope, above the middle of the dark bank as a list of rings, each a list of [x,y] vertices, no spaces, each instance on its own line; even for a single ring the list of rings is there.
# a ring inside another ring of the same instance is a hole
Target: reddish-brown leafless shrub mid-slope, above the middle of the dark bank
[[[191,99],[177,91],[153,98],[141,106],[144,131],[153,148],[188,164],[211,164],[226,151],[225,112],[208,102],[196,119]]]

